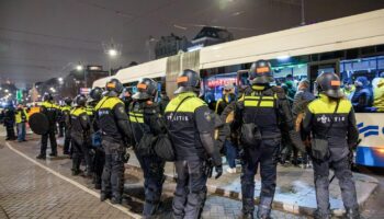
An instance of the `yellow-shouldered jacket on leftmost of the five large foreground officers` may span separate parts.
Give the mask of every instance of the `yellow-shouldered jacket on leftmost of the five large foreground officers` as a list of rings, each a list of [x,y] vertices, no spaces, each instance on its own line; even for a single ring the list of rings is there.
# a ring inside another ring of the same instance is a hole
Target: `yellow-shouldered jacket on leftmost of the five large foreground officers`
[[[124,103],[116,96],[104,96],[95,106],[103,140],[123,143],[132,131]]]

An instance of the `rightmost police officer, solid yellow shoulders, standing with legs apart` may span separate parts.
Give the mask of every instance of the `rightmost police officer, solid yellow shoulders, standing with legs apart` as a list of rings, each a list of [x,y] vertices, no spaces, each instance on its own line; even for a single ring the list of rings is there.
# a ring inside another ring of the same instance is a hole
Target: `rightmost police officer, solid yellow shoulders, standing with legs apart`
[[[326,139],[319,148],[325,151],[321,157],[312,153],[314,160],[314,176],[316,188],[317,210],[315,218],[330,218],[329,210],[329,169],[334,169],[339,180],[341,197],[347,211],[347,218],[360,218],[359,205],[352,172],[350,169],[350,148],[354,147],[359,132],[355,125],[353,107],[350,101],[345,99],[340,90],[340,79],[335,73],[321,73],[316,79],[319,99],[309,103],[303,120],[303,129],[312,132],[313,142],[317,139]]]

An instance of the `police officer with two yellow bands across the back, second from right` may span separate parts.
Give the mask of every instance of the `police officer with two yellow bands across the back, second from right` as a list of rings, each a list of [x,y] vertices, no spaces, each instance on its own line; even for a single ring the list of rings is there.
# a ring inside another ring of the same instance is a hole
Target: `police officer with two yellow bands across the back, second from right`
[[[242,218],[253,218],[255,174],[260,165],[261,193],[258,218],[270,218],[276,186],[276,163],[282,131],[302,148],[294,132],[290,103],[284,90],[270,85],[274,80],[270,62],[259,60],[249,70],[251,85],[246,88],[235,108],[234,129],[240,132],[242,147]],[[281,127],[284,129],[281,129]]]

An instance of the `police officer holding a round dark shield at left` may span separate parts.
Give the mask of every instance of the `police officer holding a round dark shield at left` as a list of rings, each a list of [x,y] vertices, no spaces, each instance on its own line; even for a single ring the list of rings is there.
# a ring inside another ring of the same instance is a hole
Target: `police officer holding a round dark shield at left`
[[[37,159],[45,159],[46,158],[46,150],[48,145],[48,138],[50,142],[50,157],[57,157],[57,142],[56,142],[56,122],[57,122],[57,115],[59,107],[54,103],[54,97],[50,93],[45,93],[43,95],[43,104],[41,106],[41,113],[45,114],[48,118],[49,123],[49,129],[47,134],[44,134],[42,136],[42,146],[41,146],[41,152],[36,157]]]

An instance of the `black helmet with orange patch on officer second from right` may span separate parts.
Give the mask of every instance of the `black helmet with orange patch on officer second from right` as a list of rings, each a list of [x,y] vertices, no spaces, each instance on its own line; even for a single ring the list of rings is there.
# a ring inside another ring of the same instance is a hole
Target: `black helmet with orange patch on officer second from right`
[[[258,60],[249,69],[249,82],[251,84],[262,84],[273,82],[273,71],[271,64],[266,60]]]

